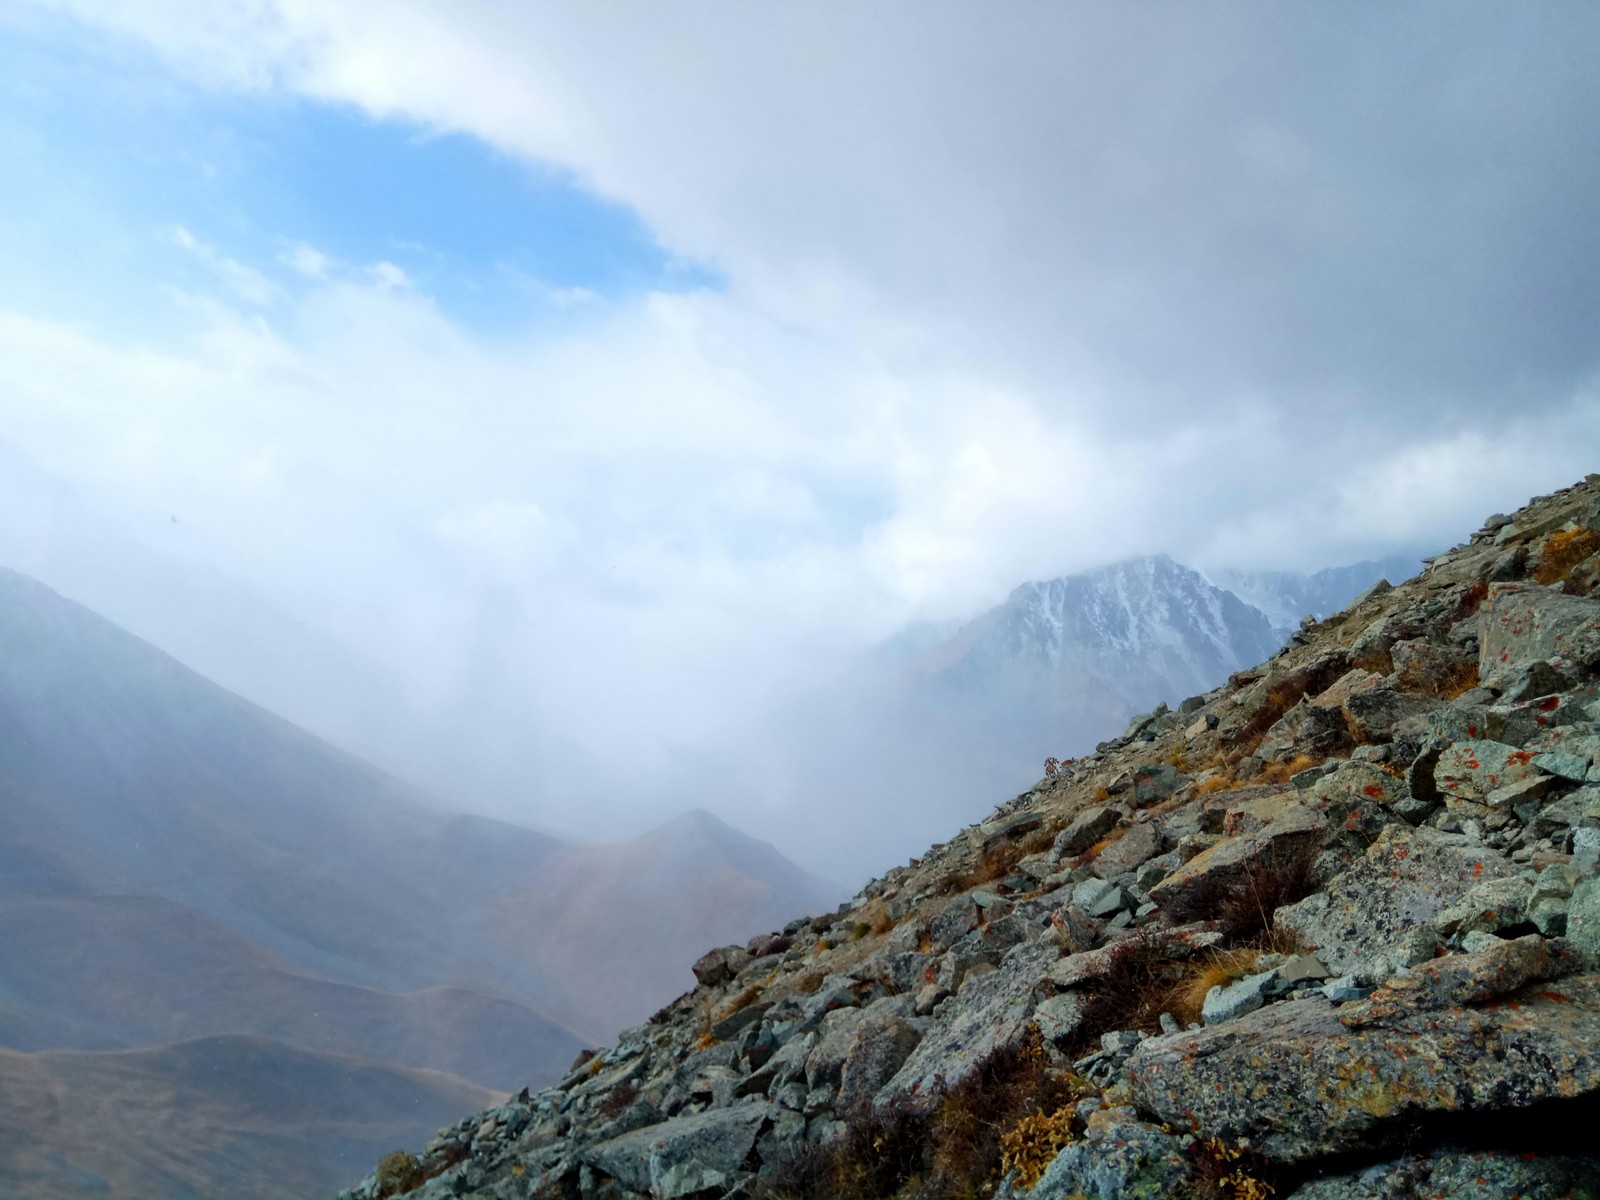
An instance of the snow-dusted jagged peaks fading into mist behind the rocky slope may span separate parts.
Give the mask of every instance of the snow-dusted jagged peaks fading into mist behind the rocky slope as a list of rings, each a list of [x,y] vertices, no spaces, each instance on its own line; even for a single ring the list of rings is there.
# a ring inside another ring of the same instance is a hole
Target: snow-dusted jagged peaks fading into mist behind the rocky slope
[[[1046,757],[1085,754],[1133,714],[1218,686],[1277,651],[1302,616],[1421,566],[1397,555],[1312,574],[1206,574],[1150,555],[1021,584],[965,622],[909,626],[779,715],[771,774],[797,813],[784,845],[864,877],[971,821],[974,795],[1030,786]]]

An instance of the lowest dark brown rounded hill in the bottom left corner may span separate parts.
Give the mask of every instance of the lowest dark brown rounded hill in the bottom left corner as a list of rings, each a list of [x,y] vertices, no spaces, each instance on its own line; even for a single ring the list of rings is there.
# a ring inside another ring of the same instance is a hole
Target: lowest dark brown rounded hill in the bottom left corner
[[[498,1098],[448,1075],[250,1037],[0,1050],[0,1194],[304,1200]]]

